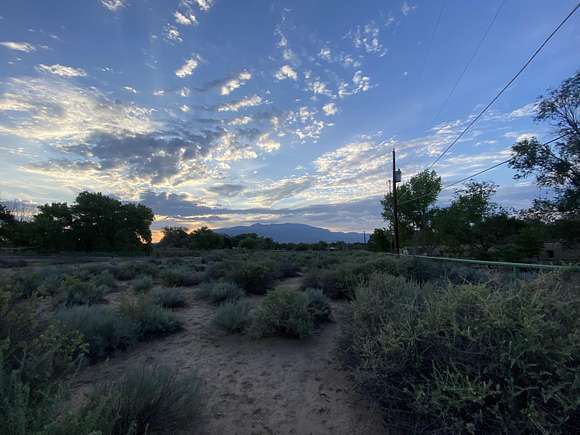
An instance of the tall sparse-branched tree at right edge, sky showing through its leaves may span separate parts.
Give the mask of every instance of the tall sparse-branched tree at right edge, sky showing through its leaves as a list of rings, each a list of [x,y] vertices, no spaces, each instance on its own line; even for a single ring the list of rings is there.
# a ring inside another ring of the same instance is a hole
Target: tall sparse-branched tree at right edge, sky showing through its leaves
[[[558,89],[540,97],[536,122],[547,121],[562,136],[552,144],[537,138],[524,139],[512,147],[510,166],[516,178],[535,175],[541,186],[555,190],[553,200],[536,200],[535,207],[546,216],[578,218],[580,210],[580,71],[564,80]]]

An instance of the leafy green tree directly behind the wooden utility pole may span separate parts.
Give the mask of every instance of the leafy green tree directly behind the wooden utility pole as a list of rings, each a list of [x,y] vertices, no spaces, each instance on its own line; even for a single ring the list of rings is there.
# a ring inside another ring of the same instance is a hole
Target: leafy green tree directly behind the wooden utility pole
[[[426,232],[430,226],[433,204],[441,192],[441,177],[425,170],[397,188],[399,202],[399,233],[401,241],[409,240],[415,232]],[[381,201],[383,219],[394,224],[393,194]]]

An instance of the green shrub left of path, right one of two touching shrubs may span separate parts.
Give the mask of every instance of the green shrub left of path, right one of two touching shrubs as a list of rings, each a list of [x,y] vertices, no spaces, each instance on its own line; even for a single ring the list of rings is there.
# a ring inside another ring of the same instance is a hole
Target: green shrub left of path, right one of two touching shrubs
[[[123,299],[119,308],[123,317],[137,324],[140,339],[169,334],[181,329],[181,322],[173,313],[144,297],[135,301]]]

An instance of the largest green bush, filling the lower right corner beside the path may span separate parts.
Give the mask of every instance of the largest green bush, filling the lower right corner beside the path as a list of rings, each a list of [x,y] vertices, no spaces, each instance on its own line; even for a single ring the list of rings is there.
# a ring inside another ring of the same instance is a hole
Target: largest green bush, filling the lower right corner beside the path
[[[357,289],[342,342],[357,384],[401,431],[572,433],[580,427],[580,293],[547,275],[491,288]]]

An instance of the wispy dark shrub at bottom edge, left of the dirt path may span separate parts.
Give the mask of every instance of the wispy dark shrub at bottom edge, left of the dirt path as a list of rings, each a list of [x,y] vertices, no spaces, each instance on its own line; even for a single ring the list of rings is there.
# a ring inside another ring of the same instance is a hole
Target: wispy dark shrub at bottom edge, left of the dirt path
[[[136,368],[98,387],[88,402],[67,415],[59,434],[177,433],[201,416],[201,381],[196,372],[178,375],[164,367]]]

